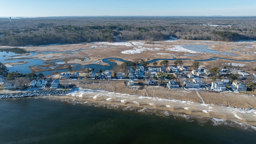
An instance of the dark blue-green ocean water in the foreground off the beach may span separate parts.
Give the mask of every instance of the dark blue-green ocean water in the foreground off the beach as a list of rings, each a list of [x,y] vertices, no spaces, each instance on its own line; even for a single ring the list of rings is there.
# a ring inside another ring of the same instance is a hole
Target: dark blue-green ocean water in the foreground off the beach
[[[154,112],[80,103],[52,98],[0,100],[0,144],[256,142],[256,131],[241,124],[216,125],[205,118],[159,116]]]

